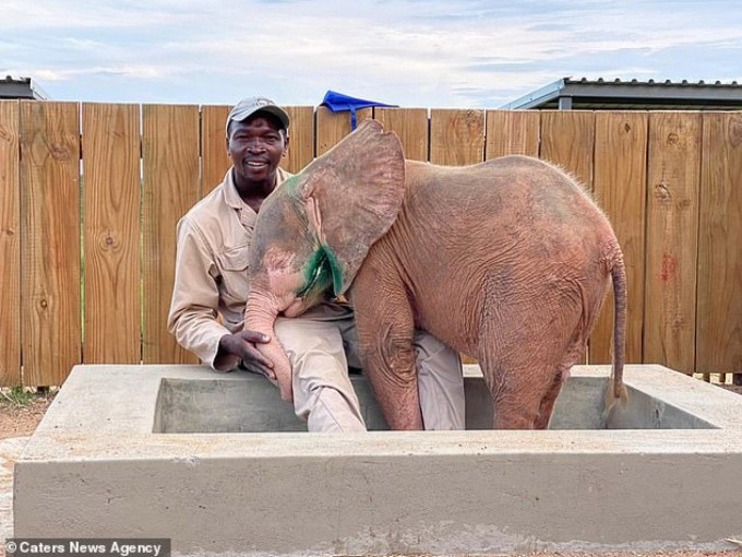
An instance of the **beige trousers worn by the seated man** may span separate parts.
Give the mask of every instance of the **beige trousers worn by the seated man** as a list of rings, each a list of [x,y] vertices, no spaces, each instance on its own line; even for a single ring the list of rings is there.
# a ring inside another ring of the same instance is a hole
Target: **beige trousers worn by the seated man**
[[[294,366],[294,408],[310,431],[364,431],[348,365],[360,367],[352,311],[325,304],[276,320],[276,336]],[[464,378],[458,354],[416,331],[420,410],[426,429],[465,429]]]

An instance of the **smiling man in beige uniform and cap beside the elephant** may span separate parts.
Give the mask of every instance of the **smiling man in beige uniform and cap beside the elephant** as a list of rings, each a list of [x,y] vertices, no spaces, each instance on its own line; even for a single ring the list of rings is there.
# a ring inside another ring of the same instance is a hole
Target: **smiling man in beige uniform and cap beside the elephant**
[[[250,291],[248,256],[263,201],[291,175],[278,165],[288,150],[289,117],[264,97],[229,112],[224,181],[178,223],[176,276],[168,329],[217,371],[243,369],[275,381],[255,348],[267,339],[243,331]],[[276,336],[292,366],[294,410],[310,431],[363,431],[348,368],[360,367],[352,308],[326,299],[297,318],[279,317]],[[427,429],[464,429],[458,355],[432,335],[416,334],[420,406]]]

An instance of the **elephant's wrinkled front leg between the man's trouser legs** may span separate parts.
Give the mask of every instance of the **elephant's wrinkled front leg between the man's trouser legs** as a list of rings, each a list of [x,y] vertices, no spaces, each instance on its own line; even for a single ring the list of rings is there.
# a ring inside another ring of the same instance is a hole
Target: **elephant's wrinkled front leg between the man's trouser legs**
[[[351,299],[363,372],[388,426],[422,429],[415,322],[402,280],[382,263],[367,259],[354,281]]]

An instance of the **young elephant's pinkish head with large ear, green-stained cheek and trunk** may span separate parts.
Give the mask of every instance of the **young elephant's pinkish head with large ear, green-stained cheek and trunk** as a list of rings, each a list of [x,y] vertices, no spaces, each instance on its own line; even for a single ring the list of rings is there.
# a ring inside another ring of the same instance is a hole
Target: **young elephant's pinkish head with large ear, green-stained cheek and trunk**
[[[291,366],[275,339],[276,318],[299,316],[348,289],[370,247],[394,223],[404,185],[399,139],[366,120],[263,202],[244,327],[271,336],[259,347],[274,363],[283,399],[292,398]]]

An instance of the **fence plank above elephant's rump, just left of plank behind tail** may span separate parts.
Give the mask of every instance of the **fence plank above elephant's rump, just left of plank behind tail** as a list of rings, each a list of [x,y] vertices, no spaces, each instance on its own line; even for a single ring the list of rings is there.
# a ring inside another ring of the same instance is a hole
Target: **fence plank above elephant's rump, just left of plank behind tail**
[[[595,112],[541,112],[540,157],[569,170],[593,191]]]

